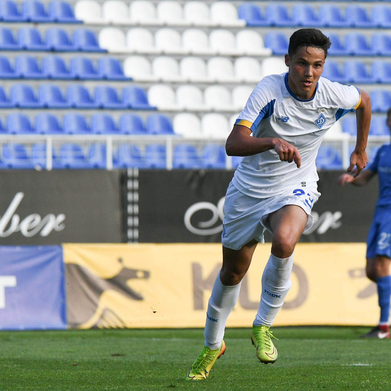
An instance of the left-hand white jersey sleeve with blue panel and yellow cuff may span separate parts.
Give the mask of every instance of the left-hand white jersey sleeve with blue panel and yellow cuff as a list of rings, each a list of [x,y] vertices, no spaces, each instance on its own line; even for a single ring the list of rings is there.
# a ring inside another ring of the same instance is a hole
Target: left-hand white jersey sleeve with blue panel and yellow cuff
[[[271,116],[274,112],[274,103],[276,102],[272,90],[273,82],[267,80],[267,78],[262,79],[251,93],[235,125],[243,125],[251,129],[251,131],[255,131],[263,118]]]

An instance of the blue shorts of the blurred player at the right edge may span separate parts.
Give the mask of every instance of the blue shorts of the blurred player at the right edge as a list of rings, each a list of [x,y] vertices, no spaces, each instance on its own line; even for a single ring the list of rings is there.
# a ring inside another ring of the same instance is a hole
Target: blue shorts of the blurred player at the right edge
[[[367,237],[367,258],[384,255],[391,258],[391,208],[377,207]]]

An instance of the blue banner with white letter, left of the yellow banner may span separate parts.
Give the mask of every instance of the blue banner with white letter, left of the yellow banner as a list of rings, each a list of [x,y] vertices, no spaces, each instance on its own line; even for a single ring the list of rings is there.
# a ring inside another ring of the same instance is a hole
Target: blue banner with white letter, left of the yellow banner
[[[0,246],[0,329],[65,329],[61,246]]]

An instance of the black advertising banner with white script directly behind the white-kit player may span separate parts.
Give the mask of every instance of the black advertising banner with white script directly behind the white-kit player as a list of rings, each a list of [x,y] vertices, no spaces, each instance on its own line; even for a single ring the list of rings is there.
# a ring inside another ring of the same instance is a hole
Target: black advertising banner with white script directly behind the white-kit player
[[[322,195],[313,208],[314,226],[301,236],[301,242],[365,242],[378,194],[377,179],[364,187],[341,187],[337,179],[342,173],[318,173]],[[232,176],[233,171],[140,170],[138,241],[219,242],[224,196]],[[265,239],[269,241],[271,235],[265,234]]]

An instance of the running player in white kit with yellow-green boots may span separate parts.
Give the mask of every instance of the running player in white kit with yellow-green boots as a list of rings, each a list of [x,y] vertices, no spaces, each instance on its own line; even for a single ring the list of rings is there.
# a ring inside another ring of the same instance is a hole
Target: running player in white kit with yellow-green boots
[[[291,287],[294,247],[312,226],[311,209],[320,196],[317,151],[326,131],[349,111],[356,111],[357,143],[347,171],[357,176],[368,162],[369,95],[321,77],[330,45],[320,30],[294,32],[285,54],[289,71],[257,84],[228,136],[227,154],[244,158],[226,193],[223,263],[209,299],[205,346],[188,370],[189,380],[206,379],[224,353],[226,320],[265,229],[272,233],[271,255],[251,341],[261,362],[276,361],[269,328]]]

